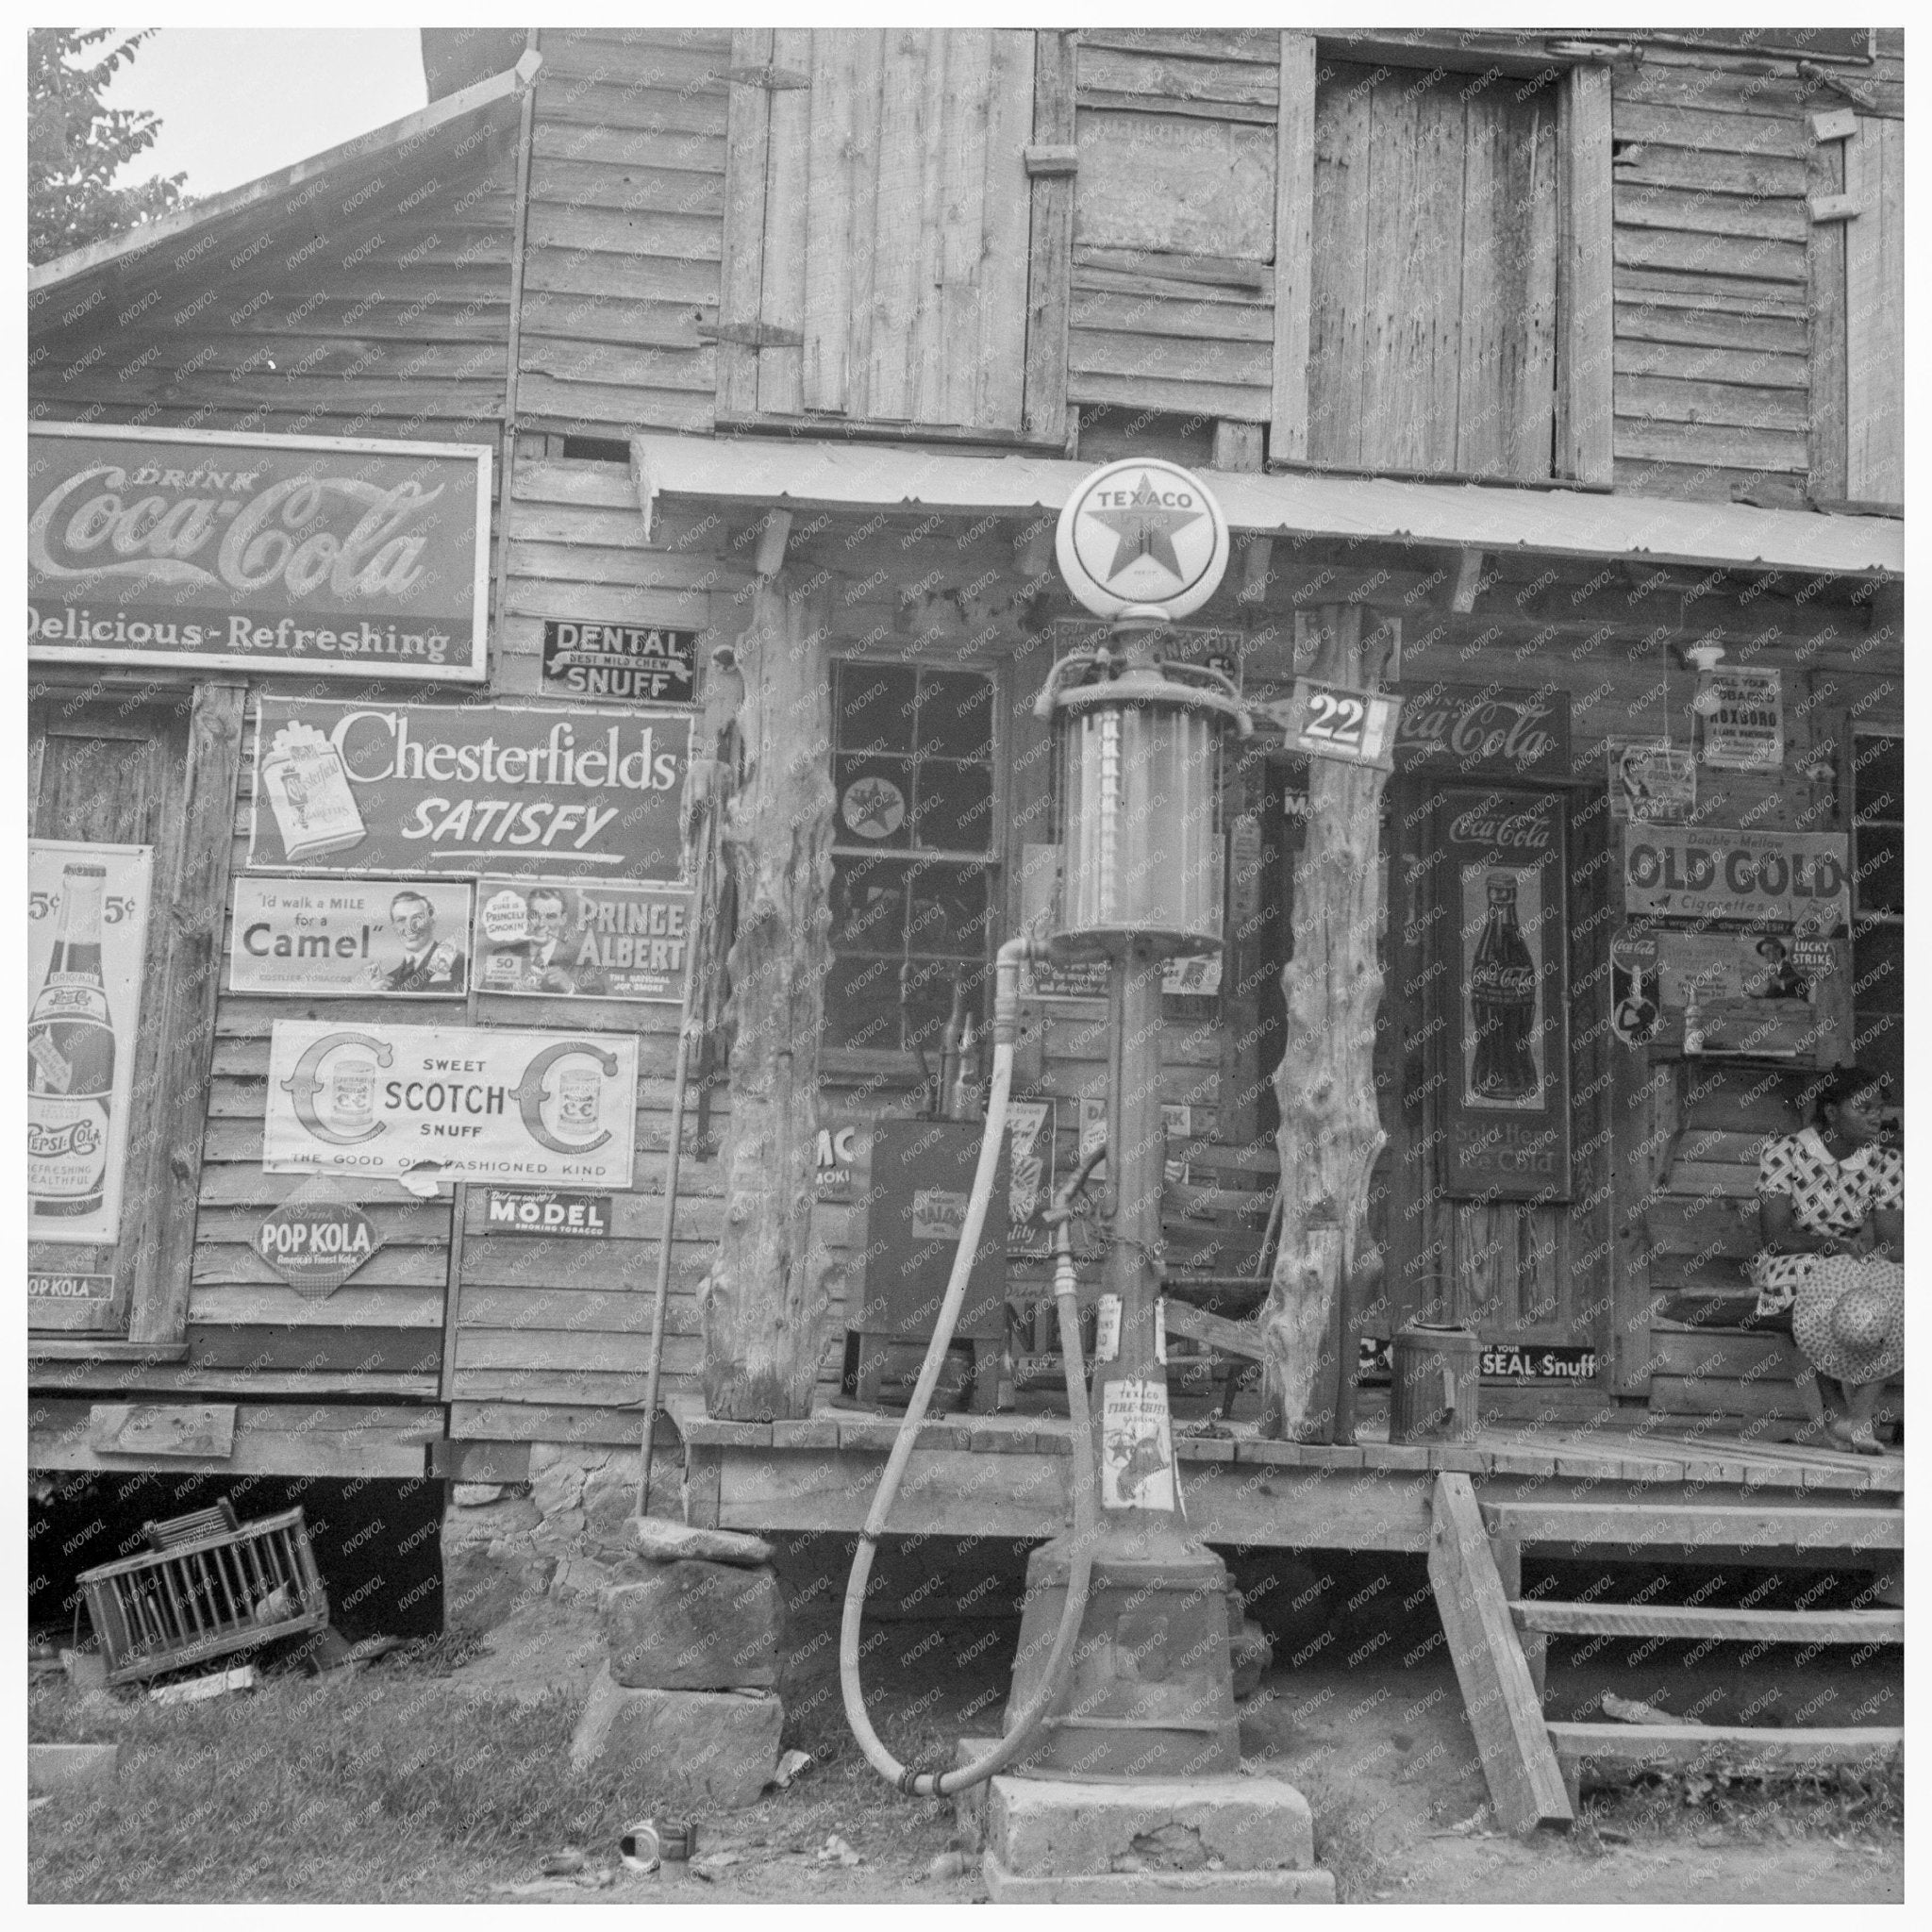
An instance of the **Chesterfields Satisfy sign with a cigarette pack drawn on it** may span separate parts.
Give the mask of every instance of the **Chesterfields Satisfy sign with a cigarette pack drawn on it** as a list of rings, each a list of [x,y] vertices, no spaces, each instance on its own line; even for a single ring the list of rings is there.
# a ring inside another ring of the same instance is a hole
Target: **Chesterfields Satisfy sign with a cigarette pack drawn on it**
[[[253,869],[678,879],[692,715],[255,703]]]

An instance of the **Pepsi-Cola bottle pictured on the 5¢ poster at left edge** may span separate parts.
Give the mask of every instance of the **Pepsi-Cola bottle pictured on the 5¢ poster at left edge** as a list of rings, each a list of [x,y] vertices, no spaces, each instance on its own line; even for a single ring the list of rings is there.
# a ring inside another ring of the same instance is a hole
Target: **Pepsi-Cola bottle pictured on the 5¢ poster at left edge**
[[[33,1219],[100,1206],[114,1109],[114,1018],[100,972],[104,866],[68,866],[60,933],[27,1016],[27,1194]]]

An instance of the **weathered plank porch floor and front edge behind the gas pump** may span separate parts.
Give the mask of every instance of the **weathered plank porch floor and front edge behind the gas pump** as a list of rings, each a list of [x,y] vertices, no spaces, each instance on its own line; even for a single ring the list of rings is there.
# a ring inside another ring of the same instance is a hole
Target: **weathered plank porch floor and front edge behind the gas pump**
[[[674,1399],[692,1522],[744,1530],[858,1530],[898,1420],[821,1405],[802,1422],[715,1422],[696,1397]],[[1428,1549],[1435,1474],[1468,1474],[1484,1503],[1642,1503],[1658,1555],[1700,1540],[1700,1513],[1723,1505],[1721,1548],[1739,1548],[1737,1505],[1777,1503],[1762,1544],[1789,1551],[1793,1505],[1833,1519],[1895,1511],[1899,1453],[1853,1457],[1797,1443],[1716,1434],[1507,1422],[1468,1445],[1389,1443],[1364,1420],[1350,1445],[1265,1441],[1252,1422],[1190,1434],[1175,1449],[1190,1528],[1229,1546]],[[1063,1416],[949,1416],[927,1422],[889,1524],[904,1534],[1057,1534],[1068,1519],[1072,1426]],[[1718,1520],[1716,1515],[1710,1517]],[[1828,1538],[1820,1536],[1820,1548]],[[1712,1540],[1712,1548],[1719,1548]]]

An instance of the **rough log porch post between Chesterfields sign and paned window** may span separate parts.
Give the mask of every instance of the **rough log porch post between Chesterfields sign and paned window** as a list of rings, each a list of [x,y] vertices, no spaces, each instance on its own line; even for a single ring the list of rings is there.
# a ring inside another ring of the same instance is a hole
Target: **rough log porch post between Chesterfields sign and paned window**
[[[811,1238],[819,1034],[831,964],[831,665],[819,605],[757,585],[738,639],[746,775],[724,813],[730,949],[724,1229],[697,1302],[705,1410],[811,1414],[827,1262]]]

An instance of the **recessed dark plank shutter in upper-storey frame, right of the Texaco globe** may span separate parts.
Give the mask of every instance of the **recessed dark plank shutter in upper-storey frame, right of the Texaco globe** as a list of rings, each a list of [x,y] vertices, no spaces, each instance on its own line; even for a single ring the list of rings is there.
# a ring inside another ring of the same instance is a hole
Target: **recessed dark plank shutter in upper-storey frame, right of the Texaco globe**
[[[1316,87],[1308,458],[1548,477],[1557,116],[1329,62]]]

